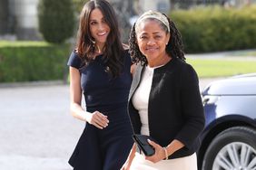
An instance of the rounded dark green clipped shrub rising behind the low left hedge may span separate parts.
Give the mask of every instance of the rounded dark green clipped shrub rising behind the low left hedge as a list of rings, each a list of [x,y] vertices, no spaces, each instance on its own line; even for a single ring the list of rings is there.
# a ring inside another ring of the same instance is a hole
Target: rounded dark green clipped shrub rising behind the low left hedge
[[[39,31],[44,40],[62,43],[74,34],[72,0],[40,0],[38,5]]]

